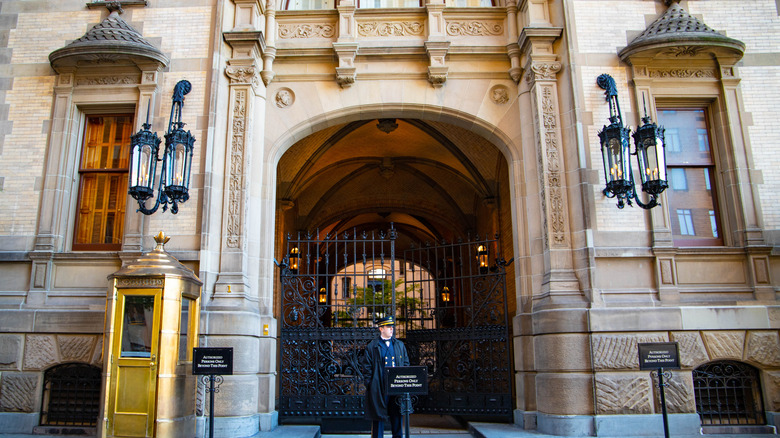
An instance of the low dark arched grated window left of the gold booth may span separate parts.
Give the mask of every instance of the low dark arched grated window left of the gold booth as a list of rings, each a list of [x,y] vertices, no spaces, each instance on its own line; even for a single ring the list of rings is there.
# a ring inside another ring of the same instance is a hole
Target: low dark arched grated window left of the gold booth
[[[68,363],[43,374],[41,425],[94,427],[100,411],[100,368]]]

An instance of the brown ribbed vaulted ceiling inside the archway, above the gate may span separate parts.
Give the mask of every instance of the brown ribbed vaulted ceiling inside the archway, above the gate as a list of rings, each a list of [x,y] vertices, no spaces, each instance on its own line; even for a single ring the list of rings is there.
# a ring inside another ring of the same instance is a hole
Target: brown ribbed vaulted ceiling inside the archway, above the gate
[[[387,229],[417,241],[474,233],[506,161],[482,137],[415,119],[361,120],[316,132],[278,165],[278,199],[298,230]],[[505,182],[506,183],[506,182]]]

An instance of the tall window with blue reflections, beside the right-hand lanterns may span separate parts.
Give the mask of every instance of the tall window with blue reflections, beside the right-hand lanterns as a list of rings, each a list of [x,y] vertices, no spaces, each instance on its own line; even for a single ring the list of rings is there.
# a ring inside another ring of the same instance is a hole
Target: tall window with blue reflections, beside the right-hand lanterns
[[[723,244],[707,120],[703,108],[658,110],[658,124],[666,128],[667,203],[678,246]]]

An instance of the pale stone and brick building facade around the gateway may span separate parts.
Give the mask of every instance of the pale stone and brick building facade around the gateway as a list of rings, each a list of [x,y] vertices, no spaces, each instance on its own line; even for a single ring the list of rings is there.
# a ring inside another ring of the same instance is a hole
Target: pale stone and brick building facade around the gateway
[[[694,375],[718,364],[780,425],[778,3],[362,2],[0,2],[0,431],[42,424],[49,370],[105,367],[106,278],[158,230],[203,281],[200,344],[242,352],[216,426],[273,429],[286,236],[391,223],[399,249],[500,236],[524,428],[656,427],[645,342],[679,345],[672,427],[710,424]],[[666,126],[653,209],[602,192],[603,73],[626,125]],[[181,79],[189,200],[144,216],[106,182],[100,210],[90,175],[124,181],[127,150],[90,167],[91,127],[162,132]]]

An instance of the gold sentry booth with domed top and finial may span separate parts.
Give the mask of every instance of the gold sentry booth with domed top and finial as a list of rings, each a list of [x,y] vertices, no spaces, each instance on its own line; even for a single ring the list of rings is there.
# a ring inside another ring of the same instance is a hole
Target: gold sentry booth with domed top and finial
[[[203,284],[157,247],[111,274],[106,297],[100,437],[195,436],[196,377]]]

